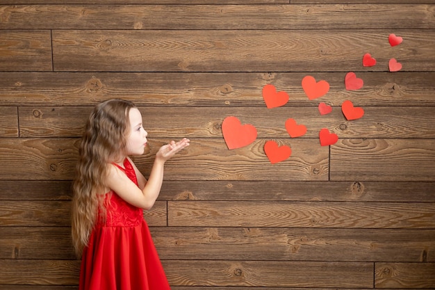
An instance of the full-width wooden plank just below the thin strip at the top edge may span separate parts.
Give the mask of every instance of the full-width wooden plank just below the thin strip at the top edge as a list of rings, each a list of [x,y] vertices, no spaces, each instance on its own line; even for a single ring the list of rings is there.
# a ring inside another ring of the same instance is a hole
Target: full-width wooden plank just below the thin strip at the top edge
[[[412,17],[409,11],[412,10]],[[0,29],[434,29],[433,5],[0,6]]]

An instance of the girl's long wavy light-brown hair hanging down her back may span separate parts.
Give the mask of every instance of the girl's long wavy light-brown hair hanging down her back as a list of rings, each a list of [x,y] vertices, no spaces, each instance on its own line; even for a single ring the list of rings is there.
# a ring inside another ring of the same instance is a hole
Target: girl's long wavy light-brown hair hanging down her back
[[[97,218],[105,216],[104,179],[108,164],[125,149],[131,108],[136,108],[132,102],[110,99],[95,106],[85,125],[72,185],[72,241],[78,257]]]

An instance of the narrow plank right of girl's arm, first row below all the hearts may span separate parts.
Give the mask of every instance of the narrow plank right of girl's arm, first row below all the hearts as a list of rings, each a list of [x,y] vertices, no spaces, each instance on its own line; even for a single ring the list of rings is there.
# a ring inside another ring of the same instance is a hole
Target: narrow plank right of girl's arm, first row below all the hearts
[[[435,182],[168,180],[163,182],[159,197],[163,200],[205,201],[435,202],[434,192]]]

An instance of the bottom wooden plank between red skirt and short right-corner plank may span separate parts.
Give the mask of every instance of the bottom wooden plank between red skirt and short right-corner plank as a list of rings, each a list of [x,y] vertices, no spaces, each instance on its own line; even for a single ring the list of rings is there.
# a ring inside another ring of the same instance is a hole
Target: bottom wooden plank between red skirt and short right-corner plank
[[[173,286],[370,287],[372,263],[163,261]]]

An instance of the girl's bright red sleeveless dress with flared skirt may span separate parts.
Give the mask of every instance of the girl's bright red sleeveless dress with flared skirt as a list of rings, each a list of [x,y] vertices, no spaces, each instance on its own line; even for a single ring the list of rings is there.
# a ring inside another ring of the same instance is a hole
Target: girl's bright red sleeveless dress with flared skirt
[[[118,166],[138,185],[128,159]],[[93,229],[83,250],[79,290],[166,290],[169,283],[142,209],[106,193],[106,220]]]

